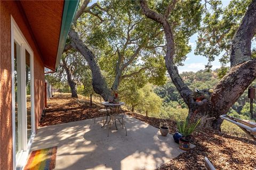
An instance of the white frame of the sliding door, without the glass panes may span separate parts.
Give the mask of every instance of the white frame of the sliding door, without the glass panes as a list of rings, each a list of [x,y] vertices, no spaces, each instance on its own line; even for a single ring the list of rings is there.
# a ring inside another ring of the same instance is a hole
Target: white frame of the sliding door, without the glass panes
[[[14,40],[21,49],[21,106],[22,113],[22,153],[16,158],[15,149],[15,84],[14,84]],[[30,54],[30,101],[31,101],[31,137],[27,140],[27,101],[26,101],[26,50]],[[26,164],[29,150],[35,137],[35,94],[34,94],[34,52],[23,36],[17,23],[11,16],[11,61],[12,61],[12,147],[13,147],[13,169],[20,168]]]

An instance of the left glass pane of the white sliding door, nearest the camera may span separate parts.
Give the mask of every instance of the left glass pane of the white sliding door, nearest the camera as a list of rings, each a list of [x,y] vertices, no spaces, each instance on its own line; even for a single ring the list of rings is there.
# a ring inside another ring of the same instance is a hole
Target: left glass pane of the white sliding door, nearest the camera
[[[22,151],[21,47],[14,42],[15,151]]]

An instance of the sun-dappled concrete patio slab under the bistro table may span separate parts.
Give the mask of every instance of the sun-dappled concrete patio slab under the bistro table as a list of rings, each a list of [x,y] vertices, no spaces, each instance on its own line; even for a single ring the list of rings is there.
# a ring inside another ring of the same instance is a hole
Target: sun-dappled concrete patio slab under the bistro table
[[[155,169],[183,151],[172,135],[131,116],[127,136],[117,123],[101,128],[102,117],[39,128],[31,150],[58,146],[55,169]]]

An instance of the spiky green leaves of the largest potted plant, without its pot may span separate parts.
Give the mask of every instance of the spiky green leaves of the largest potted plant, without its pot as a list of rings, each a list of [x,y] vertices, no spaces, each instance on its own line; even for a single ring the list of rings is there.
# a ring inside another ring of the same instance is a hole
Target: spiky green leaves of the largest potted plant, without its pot
[[[178,122],[179,132],[186,140],[188,140],[190,135],[196,130],[200,122],[201,118],[195,123],[190,123],[188,119],[186,119],[185,121],[180,121]]]

